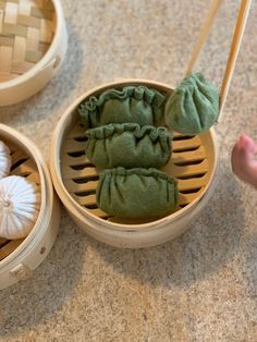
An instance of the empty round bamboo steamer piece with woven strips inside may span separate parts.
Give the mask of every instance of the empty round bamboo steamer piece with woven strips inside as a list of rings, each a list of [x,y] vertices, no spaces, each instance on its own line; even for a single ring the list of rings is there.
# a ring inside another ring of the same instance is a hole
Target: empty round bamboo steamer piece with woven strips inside
[[[39,91],[68,45],[60,0],[0,1],[0,107]]]

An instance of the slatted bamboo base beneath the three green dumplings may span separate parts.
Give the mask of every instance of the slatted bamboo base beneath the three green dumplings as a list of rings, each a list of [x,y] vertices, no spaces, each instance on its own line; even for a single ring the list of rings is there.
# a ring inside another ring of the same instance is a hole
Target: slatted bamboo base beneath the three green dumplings
[[[77,121],[62,145],[62,179],[72,197],[90,213],[119,222],[97,207],[98,170],[85,155],[85,129]],[[172,157],[163,171],[179,182],[179,209],[196,199],[209,182],[209,157],[203,136],[174,134]],[[122,221],[124,223],[124,221]],[[131,223],[131,222],[130,222]],[[138,223],[133,220],[133,223]]]

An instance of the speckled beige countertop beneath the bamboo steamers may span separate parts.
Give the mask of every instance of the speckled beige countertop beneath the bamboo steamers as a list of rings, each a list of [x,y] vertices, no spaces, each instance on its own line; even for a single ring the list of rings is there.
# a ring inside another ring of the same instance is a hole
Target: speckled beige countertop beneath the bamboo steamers
[[[64,0],[59,74],[0,122],[47,159],[53,129],[85,90],[120,77],[176,85],[210,1]],[[240,1],[223,1],[197,70],[221,84]],[[0,292],[0,341],[257,341],[257,192],[231,172],[242,132],[257,138],[257,5],[252,5],[222,123],[217,191],[183,235],[118,249],[62,210],[57,242],[29,280]]]

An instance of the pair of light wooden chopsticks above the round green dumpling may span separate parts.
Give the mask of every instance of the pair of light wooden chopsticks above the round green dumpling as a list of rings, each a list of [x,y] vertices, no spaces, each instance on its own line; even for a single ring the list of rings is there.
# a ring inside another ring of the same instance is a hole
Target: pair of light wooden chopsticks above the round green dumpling
[[[213,20],[216,17],[217,13],[218,13],[218,10],[220,8],[221,2],[222,2],[222,0],[212,0],[209,13],[208,13],[207,19],[206,19],[206,21],[201,27],[199,38],[195,45],[195,48],[193,50],[189,63],[187,65],[186,73],[185,73],[186,75],[191,74],[193,69],[194,69],[194,65],[195,65],[195,63],[199,57],[200,50],[203,49],[203,47],[204,47],[204,45],[205,45],[205,42],[209,36],[211,25],[213,23]],[[236,62],[236,59],[237,59],[237,56],[240,52],[240,47],[241,47],[242,38],[244,35],[244,29],[246,26],[248,14],[249,14],[250,2],[252,2],[252,0],[242,0],[241,1],[238,15],[237,15],[237,20],[236,20],[236,25],[235,25],[235,29],[234,29],[234,35],[233,35],[233,39],[231,42],[230,54],[229,54],[229,59],[227,62],[227,68],[225,68],[222,85],[220,88],[220,109],[219,109],[219,115],[217,119],[218,122],[221,121],[221,115],[222,115],[224,103],[225,103],[225,100],[228,97],[232,75],[233,75],[234,68],[235,68],[235,62]]]

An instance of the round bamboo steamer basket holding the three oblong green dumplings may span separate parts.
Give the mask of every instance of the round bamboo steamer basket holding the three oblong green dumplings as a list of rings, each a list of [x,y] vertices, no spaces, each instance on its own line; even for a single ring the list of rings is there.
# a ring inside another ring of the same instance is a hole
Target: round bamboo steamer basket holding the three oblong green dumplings
[[[181,234],[204,209],[215,188],[218,149],[210,131],[187,136],[175,133],[172,157],[163,171],[179,181],[179,210],[155,221],[119,220],[96,204],[97,169],[85,156],[85,129],[77,107],[82,100],[108,88],[145,85],[171,94],[168,85],[144,80],[127,80],[95,88],[78,98],[63,114],[51,143],[50,170],[57,193],[75,220],[93,237],[118,247],[146,247]]]

